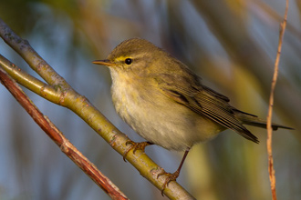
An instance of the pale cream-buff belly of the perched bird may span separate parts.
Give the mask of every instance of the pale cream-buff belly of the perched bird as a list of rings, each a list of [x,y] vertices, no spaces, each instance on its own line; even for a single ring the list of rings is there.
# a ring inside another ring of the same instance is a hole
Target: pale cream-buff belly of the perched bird
[[[112,88],[116,111],[140,136],[155,145],[184,150],[195,143],[212,139],[224,130],[222,125],[173,102],[165,95],[132,95],[137,93],[129,89],[123,92],[118,90],[117,94]]]

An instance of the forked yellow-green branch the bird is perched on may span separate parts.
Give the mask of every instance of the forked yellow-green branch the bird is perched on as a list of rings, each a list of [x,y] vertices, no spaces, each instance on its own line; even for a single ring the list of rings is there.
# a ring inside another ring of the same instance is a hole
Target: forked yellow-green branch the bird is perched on
[[[16,53],[22,56],[26,63],[36,71],[48,85],[26,74],[16,65],[5,59],[4,56],[0,56],[0,66],[3,67],[17,83],[26,86],[26,88],[36,93],[36,95],[40,95],[48,101],[69,108],[102,136],[120,155],[125,154],[129,148],[129,146],[126,145],[126,142],[129,141],[128,136],[121,133],[112,125],[94,105],[89,103],[85,96],[79,95],[68,85],[65,79],[58,75],[26,40],[16,35],[1,19],[0,36],[5,40],[7,45],[10,45]],[[157,175],[161,173],[162,168],[156,165],[148,155],[141,151],[137,151],[135,155],[133,155],[132,151],[130,151],[127,155],[127,160],[140,172],[140,175],[147,178],[152,185],[155,185],[161,190],[166,175],[161,175],[157,179]],[[192,195],[174,181],[164,190],[164,194],[171,199],[193,199]]]

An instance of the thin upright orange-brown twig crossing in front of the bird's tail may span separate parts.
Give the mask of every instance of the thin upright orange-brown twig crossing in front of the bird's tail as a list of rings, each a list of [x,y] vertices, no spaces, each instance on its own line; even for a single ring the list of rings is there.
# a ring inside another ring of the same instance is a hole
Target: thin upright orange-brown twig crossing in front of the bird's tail
[[[269,109],[268,109],[268,115],[267,115],[267,123],[266,123],[266,129],[267,129],[267,139],[266,139],[266,147],[267,147],[267,155],[268,155],[268,172],[269,172],[269,178],[271,182],[271,191],[272,191],[272,199],[276,200],[276,192],[275,192],[275,169],[273,164],[273,155],[272,155],[272,114],[273,114],[273,105],[274,105],[274,93],[275,93],[275,84],[277,81],[277,75],[278,75],[278,65],[280,60],[280,54],[281,54],[281,48],[283,43],[283,38],[285,35],[285,27],[286,27],[286,21],[287,21],[287,10],[288,10],[288,0],[286,0],[285,5],[285,17],[284,21],[280,25],[280,34],[279,34],[279,42],[278,42],[278,49],[277,49],[277,55],[275,58],[275,69],[274,69],[274,75],[271,85],[271,94],[270,94],[270,100],[269,100]]]

